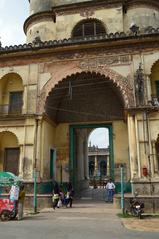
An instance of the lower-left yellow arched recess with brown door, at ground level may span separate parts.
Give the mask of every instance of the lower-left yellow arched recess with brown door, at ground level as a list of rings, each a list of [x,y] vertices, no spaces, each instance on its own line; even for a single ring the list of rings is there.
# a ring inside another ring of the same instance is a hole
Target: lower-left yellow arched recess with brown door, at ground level
[[[17,137],[8,131],[0,133],[0,170],[19,174],[20,148]]]

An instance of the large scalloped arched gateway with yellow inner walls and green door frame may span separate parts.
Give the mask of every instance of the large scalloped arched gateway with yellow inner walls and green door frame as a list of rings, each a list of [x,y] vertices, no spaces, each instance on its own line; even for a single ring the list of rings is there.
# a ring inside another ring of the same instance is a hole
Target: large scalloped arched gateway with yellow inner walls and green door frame
[[[57,78],[55,74],[45,85],[40,97],[43,100],[39,102],[39,111],[44,110],[56,124],[56,177],[61,181],[71,179],[76,190],[88,185],[89,133],[92,129],[105,127],[109,130],[110,141],[109,176],[117,176],[119,180],[115,168],[120,163],[126,165],[126,173],[129,171],[124,112],[133,104],[133,94],[127,79],[106,67],[101,67],[100,71],[80,72],[78,69],[73,74],[61,75],[61,80]],[[64,131],[67,131],[65,142],[58,135]]]

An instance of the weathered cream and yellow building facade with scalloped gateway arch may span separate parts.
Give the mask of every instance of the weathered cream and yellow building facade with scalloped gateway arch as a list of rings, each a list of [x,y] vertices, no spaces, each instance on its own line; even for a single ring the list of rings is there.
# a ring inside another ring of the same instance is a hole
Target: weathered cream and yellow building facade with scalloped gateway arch
[[[88,185],[88,137],[109,130],[109,174],[159,192],[157,0],[30,0],[26,44],[0,48],[0,170],[47,191]],[[77,186],[78,185],[78,186]]]

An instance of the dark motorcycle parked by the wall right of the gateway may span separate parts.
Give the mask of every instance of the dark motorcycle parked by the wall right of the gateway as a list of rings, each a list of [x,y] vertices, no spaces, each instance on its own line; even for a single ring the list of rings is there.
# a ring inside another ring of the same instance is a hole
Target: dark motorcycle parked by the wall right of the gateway
[[[142,218],[142,214],[144,213],[144,203],[138,201],[136,198],[130,199],[130,213],[138,217]]]

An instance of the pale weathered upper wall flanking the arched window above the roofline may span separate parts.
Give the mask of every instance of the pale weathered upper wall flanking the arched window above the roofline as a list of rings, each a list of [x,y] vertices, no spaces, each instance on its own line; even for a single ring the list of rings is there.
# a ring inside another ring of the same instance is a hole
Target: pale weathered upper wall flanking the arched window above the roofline
[[[97,9],[90,18],[101,20],[106,28],[107,33],[123,31],[123,14],[122,8]],[[27,42],[32,42],[38,35],[42,41],[60,40],[70,38],[74,26],[81,20],[86,19],[79,13],[70,13],[69,15],[57,16],[56,24],[52,19],[44,20],[39,23],[30,25],[27,31]]]

